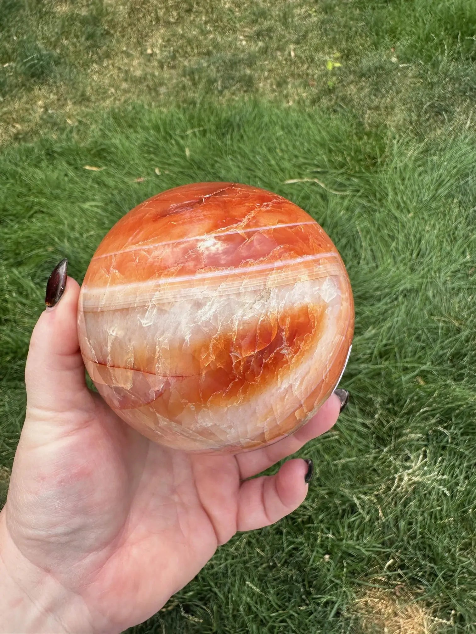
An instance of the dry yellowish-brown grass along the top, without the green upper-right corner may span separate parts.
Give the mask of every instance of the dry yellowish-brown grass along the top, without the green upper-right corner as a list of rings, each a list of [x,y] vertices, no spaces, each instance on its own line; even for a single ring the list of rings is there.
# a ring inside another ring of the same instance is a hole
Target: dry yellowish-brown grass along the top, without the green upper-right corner
[[[125,101],[166,107],[204,96],[344,107],[369,128],[407,129],[415,113],[438,122],[433,105],[440,108],[451,93],[453,125],[464,127],[468,100],[444,81],[439,94],[429,94],[421,64],[400,65],[398,52],[376,49],[354,5],[79,0],[52,2],[39,16],[25,10],[6,33],[5,41],[13,32],[17,40],[0,55],[0,84],[3,71],[9,86],[0,103],[0,143]],[[22,75],[15,57],[22,38],[55,56],[51,76]],[[340,65],[329,70],[329,59]]]

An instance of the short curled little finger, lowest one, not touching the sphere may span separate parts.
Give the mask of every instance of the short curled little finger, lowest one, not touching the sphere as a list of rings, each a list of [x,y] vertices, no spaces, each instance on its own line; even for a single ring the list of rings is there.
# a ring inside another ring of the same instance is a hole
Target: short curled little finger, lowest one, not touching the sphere
[[[288,460],[275,475],[261,475],[242,483],[238,495],[237,530],[269,526],[296,510],[308,485],[306,460]]]

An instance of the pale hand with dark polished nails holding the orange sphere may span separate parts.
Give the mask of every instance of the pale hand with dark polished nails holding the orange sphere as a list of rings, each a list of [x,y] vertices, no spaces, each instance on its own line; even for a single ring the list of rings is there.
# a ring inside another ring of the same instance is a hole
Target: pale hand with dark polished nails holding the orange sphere
[[[60,301],[32,333],[27,414],[0,514],[0,631],[9,633],[112,633],[149,618],[237,531],[301,504],[311,461],[248,478],[332,427],[348,398],[336,391],[293,436],[250,453],[154,444],[86,386],[79,285],[66,270],[63,261],[53,272]]]

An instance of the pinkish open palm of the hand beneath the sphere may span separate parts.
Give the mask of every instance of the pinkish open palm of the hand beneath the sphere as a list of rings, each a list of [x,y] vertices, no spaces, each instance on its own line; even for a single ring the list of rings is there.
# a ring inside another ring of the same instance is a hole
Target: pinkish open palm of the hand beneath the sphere
[[[18,488],[23,503],[9,520],[42,569],[58,543],[71,546],[73,526],[74,547],[52,572],[75,593],[87,585],[89,609],[114,614],[121,628],[150,616],[235,533],[239,470],[234,456],[151,443],[93,398],[92,415],[90,403],[76,413],[75,434],[54,445],[22,439],[11,498]]]

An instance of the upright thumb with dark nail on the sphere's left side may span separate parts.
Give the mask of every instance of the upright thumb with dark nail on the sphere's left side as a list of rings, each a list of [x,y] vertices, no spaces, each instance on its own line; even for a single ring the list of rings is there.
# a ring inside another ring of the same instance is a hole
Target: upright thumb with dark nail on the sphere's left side
[[[77,337],[79,284],[62,260],[46,287],[46,310],[34,327],[25,368],[27,418],[84,410],[91,402]]]

